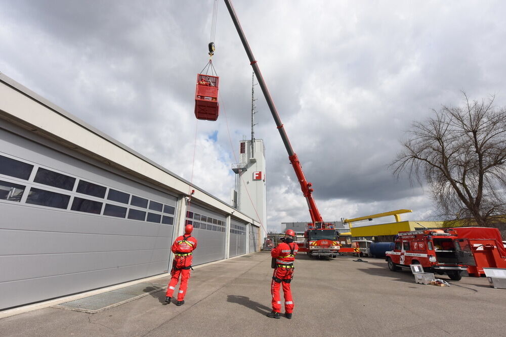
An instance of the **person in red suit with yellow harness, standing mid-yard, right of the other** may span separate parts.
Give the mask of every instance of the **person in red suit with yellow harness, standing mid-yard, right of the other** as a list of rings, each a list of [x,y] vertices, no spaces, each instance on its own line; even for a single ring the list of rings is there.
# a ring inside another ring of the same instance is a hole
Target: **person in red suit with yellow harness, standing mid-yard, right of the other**
[[[281,312],[281,298],[279,288],[283,285],[285,317],[291,318],[293,312],[293,299],[291,297],[290,282],[293,279],[293,261],[299,250],[299,246],[293,242],[295,232],[288,229],[285,232],[284,242],[280,243],[271,251],[271,256],[276,259],[274,274],[271,281],[272,312],[267,316],[279,318]]]

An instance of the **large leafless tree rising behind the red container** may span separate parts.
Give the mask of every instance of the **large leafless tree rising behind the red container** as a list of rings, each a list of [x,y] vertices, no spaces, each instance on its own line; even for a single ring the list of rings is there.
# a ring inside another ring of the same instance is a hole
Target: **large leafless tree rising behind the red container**
[[[488,101],[443,106],[425,122],[414,122],[403,150],[390,165],[431,188],[439,215],[474,219],[485,226],[506,213],[506,109]]]

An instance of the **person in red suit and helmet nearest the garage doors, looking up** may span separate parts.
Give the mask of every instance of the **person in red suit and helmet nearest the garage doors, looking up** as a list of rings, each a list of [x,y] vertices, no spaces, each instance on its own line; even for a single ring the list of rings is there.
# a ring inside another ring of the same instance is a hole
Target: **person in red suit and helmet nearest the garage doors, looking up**
[[[192,262],[192,252],[197,248],[197,239],[191,236],[193,230],[192,225],[186,225],[185,235],[178,236],[172,245],[174,253],[174,261],[172,262],[171,281],[168,283],[165,303],[171,303],[172,295],[178,284],[181,275],[181,284],[179,285],[177,306],[185,304],[186,289],[188,287],[188,279],[190,278],[190,269]]]

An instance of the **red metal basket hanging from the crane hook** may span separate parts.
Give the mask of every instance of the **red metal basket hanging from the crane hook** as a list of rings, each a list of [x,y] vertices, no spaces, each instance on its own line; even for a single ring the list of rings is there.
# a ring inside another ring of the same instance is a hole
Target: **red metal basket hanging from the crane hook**
[[[219,115],[218,76],[197,75],[195,89],[195,117],[207,121],[216,121]]]

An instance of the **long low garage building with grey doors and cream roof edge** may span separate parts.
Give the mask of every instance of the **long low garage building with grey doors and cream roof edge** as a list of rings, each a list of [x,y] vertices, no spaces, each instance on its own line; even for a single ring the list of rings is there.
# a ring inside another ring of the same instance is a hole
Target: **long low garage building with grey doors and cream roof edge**
[[[189,191],[195,190],[188,202]],[[260,223],[0,74],[0,310],[260,249]]]

